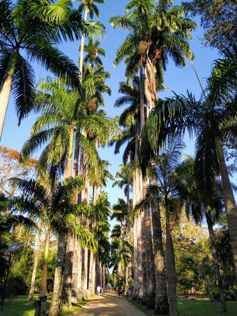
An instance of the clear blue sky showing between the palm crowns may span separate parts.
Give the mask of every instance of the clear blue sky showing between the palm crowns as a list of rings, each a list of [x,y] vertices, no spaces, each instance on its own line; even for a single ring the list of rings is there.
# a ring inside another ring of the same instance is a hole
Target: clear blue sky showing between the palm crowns
[[[104,58],[103,64],[105,66],[105,70],[111,73],[111,79],[107,81],[107,84],[110,86],[112,90],[112,96],[105,95],[106,107],[105,111],[110,117],[114,117],[115,115],[119,115],[123,109],[115,109],[113,108],[114,101],[119,97],[118,87],[119,82],[124,81],[124,72],[125,66],[121,64],[117,67],[117,69],[113,68],[112,61],[115,57],[115,52],[117,48],[123,43],[127,32],[114,29],[108,24],[109,18],[115,15],[122,15],[125,12],[125,6],[128,3],[128,0],[106,0],[105,5],[99,5],[100,9],[100,18],[99,21],[102,22],[107,29],[107,36],[102,40],[101,47],[106,50],[107,58]],[[74,7],[77,7],[79,1],[74,2]],[[180,1],[175,1],[174,4],[180,4]],[[96,19],[96,18],[95,18]],[[196,22],[199,24],[198,19]],[[191,42],[191,48],[195,55],[195,67],[197,73],[200,78],[206,78],[210,74],[212,61],[218,58],[218,54],[216,50],[211,50],[210,48],[201,47],[201,43],[198,40],[198,37],[203,35],[202,28],[198,27],[198,29],[193,34],[193,41]],[[77,64],[77,59],[79,57],[78,46],[80,42],[67,43],[61,46],[61,50],[68,55],[74,62]],[[45,77],[47,72],[45,70],[40,69],[37,65],[35,66],[36,73],[36,81],[38,81],[41,77]],[[172,61],[169,61],[167,66],[167,71],[165,73],[165,86],[169,88],[169,91],[165,91],[159,95],[159,97],[171,96],[172,90],[177,94],[186,94],[187,89],[192,91],[193,94],[198,98],[201,89],[198,84],[195,73],[191,67],[191,64],[187,62],[187,68],[178,69],[174,66]],[[203,80],[204,83],[204,80]],[[15,148],[20,150],[22,144],[29,137],[29,130],[36,118],[35,115],[30,115],[28,118],[24,119],[21,123],[20,127],[17,127],[17,118],[14,111],[13,100],[11,98],[9,102],[9,108],[7,111],[5,124],[3,128],[3,136],[1,144],[6,144],[11,148]],[[185,151],[186,154],[194,154],[193,150],[193,142],[189,141],[189,139],[185,139],[187,149]],[[100,156],[102,159],[109,160],[112,166],[109,168],[110,172],[115,176],[115,173],[119,170],[118,165],[122,161],[122,153],[120,155],[115,156],[113,154],[113,148],[106,148],[103,150],[99,150]],[[236,181],[234,181],[236,182]],[[112,183],[107,185],[105,191],[109,193],[109,201],[111,204],[115,204],[117,202],[117,198],[122,197],[122,191],[118,188],[112,189]]]

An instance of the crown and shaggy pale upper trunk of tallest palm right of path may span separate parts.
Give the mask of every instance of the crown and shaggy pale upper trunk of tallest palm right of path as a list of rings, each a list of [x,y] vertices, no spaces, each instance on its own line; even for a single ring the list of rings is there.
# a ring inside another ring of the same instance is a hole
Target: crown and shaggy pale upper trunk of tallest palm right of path
[[[130,1],[124,16],[109,20],[114,27],[130,31],[116,52],[116,67],[126,58],[126,76],[137,73],[141,62],[145,65],[145,95],[147,108],[155,106],[157,83],[162,83],[162,68],[166,70],[168,56],[178,67],[185,66],[185,58],[193,59],[188,40],[197,24],[184,18],[184,9],[172,6],[173,1]],[[133,10],[132,10],[133,9]]]

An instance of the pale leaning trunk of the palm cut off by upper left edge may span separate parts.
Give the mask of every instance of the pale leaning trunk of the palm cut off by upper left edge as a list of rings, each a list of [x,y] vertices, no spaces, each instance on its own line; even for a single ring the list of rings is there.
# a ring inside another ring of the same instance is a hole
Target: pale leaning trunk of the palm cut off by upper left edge
[[[6,117],[7,107],[10,98],[12,78],[15,71],[15,63],[18,57],[18,50],[15,49],[8,67],[7,76],[4,80],[3,87],[0,93],[0,141],[3,133],[3,125]]]

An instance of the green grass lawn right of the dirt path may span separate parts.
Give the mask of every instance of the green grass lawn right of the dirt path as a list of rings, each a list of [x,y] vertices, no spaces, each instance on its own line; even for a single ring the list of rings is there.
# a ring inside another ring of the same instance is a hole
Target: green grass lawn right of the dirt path
[[[141,303],[137,301],[133,301],[129,299],[133,305],[139,308],[144,314],[148,316],[154,315],[154,311],[150,309],[146,309]],[[217,316],[217,315],[225,315],[225,316],[236,316],[237,302],[226,302],[227,304],[227,313],[221,313],[221,303],[211,303],[210,301],[204,300],[182,300],[178,299],[178,310],[180,315],[185,316]],[[168,316],[168,315],[162,315]]]

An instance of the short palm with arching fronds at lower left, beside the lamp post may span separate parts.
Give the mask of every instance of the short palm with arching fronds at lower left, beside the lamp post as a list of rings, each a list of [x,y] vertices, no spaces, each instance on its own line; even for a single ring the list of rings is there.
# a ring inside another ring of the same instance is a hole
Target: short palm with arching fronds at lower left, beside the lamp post
[[[72,205],[73,194],[78,188],[82,189],[84,179],[81,177],[69,177],[63,183],[57,183],[50,190],[36,180],[12,179],[11,182],[23,192],[21,197],[12,199],[14,211],[22,211],[32,214],[36,219],[44,220],[47,226],[46,247],[39,297],[46,295],[46,280],[50,236],[52,233],[76,236],[85,246],[97,247],[97,240],[88,228],[80,224],[82,216],[90,215],[87,210],[82,211],[81,205]],[[38,315],[36,308],[35,315]],[[46,316],[46,304],[42,303],[40,315]]]

